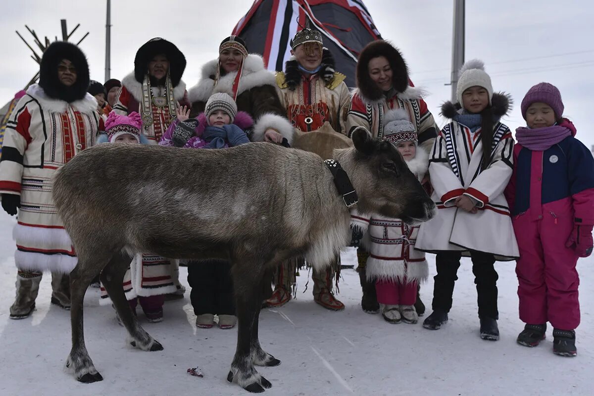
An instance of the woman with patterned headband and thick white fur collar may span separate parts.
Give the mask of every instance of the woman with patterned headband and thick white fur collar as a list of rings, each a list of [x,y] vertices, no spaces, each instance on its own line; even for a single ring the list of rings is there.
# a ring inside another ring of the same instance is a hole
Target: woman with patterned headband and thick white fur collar
[[[217,92],[229,94],[238,111],[255,121],[252,141],[292,142],[293,126],[286,119],[286,109],[276,92],[274,73],[264,68],[260,55],[249,53],[244,40],[229,36],[219,46],[219,58],[202,68],[198,84],[188,90],[192,103],[190,117],[204,112],[208,98]]]

